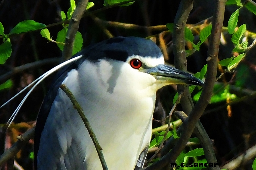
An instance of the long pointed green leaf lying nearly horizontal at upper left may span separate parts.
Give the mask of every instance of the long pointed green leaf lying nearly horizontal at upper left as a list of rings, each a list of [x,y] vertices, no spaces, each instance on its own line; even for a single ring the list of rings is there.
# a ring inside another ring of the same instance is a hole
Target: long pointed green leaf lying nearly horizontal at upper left
[[[22,22],[19,22],[9,33],[9,35],[11,34],[19,34],[19,33],[24,33],[27,31],[34,31],[37,29],[43,29],[45,28],[46,25],[45,24],[41,24],[38,22],[35,22],[33,20],[25,20]]]

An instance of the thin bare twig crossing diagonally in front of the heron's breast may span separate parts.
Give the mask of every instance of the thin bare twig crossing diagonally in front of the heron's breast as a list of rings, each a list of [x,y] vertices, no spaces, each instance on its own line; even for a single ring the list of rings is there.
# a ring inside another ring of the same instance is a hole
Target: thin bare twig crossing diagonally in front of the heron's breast
[[[77,112],[79,113],[80,117],[82,118],[82,121],[84,122],[84,125],[86,127],[86,129],[88,130],[90,137],[92,138],[92,142],[96,148],[96,151],[98,153],[98,156],[100,158],[100,162],[102,165],[103,170],[108,170],[106,161],[104,159],[103,153],[102,153],[102,148],[92,130],[92,127],[88,121],[88,119],[85,117],[83,110],[81,108],[81,106],[79,105],[79,103],[77,102],[77,100],[75,99],[75,96],[72,94],[72,92],[67,88],[67,86],[65,86],[65,84],[61,84],[60,88],[65,92],[65,94],[69,97],[69,99],[71,100],[72,104],[74,105],[74,108],[77,110]]]

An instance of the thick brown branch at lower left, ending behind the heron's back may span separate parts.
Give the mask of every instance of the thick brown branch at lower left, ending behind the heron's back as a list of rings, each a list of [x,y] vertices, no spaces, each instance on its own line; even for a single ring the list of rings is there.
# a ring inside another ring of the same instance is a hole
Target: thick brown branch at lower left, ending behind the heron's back
[[[35,126],[29,130],[27,130],[22,135],[18,136],[18,141],[15,142],[8,150],[6,150],[0,156],[0,166],[8,161],[11,158],[14,158],[15,155],[19,152],[19,150],[28,142],[30,139],[34,138]]]

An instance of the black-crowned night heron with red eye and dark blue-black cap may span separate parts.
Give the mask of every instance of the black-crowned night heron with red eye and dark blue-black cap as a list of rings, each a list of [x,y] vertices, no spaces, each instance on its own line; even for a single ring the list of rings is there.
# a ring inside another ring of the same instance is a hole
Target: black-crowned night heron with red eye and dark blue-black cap
[[[63,67],[46,95],[35,132],[38,170],[100,170],[102,165],[65,84],[88,118],[110,170],[142,169],[151,138],[156,91],[168,84],[203,85],[164,65],[158,46],[115,37],[89,46]]]

